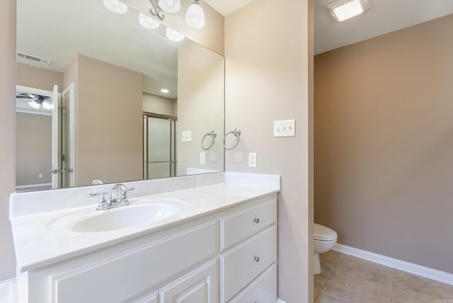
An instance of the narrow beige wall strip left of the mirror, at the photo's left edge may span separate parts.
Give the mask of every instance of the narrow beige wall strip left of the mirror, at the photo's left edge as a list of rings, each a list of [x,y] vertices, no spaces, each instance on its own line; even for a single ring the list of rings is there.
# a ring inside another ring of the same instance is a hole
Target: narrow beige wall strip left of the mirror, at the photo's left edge
[[[16,185],[16,1],[0,1],[0,281],[12,278],[15,261],[8,219]]]

